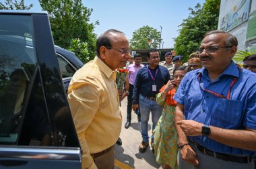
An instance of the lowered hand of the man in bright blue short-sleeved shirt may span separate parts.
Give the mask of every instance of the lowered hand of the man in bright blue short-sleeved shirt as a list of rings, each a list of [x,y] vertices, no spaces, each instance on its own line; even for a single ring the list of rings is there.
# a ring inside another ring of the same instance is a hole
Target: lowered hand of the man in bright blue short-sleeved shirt
[[[189,145],[186,145],[183,148],[181,148],[181,158],[183,158],[185,162],[189,162],[191,164],[194,164],[195,166],[199,165],[199,161],[197,160],[196,154]]]

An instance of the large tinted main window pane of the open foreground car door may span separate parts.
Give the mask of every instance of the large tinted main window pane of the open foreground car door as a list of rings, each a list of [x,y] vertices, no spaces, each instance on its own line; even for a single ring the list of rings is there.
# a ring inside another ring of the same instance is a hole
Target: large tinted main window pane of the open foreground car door
[[[17,142],[26,90],[36,72],[29,16],[0,15],[0,143]],[[30,39],[30,47],[26,38]]]

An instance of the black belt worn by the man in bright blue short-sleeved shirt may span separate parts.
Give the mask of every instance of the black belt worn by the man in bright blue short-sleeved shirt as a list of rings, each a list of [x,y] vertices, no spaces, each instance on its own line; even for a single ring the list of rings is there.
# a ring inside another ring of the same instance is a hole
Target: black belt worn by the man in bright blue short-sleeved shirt
[[[212,152],[211,150],[208,150],[207,148],[204,148],[203,146],[201,146],[195,142],[192,142],[191,140],[190,140],[190,142],[192,144],[194,144],[195,147],[203,154],[207,154],[208,156],[219,158],[221,160],[230,161],[230,162],[238,162],[238,163],[249,163],[253,159],[251,156],[234,156],[234,155],[230,155],[230,154],[222,154],[222,153],[218,153],[218,152]]]

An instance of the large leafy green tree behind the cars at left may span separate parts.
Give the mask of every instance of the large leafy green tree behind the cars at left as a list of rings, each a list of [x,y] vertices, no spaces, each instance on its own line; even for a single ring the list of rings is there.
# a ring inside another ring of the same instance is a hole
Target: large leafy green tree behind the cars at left
[[[39,2],[42,9],[49,13],[55,44],[62,48],[72,48],[75,54],[83,57],[81,54],[86,52],[79,52],[81,48],[74,49],[75,46],[80,46],[75,45],[74,40],[79,40],[79,43],[86,48],[84,50],[88,50],[88,56],[84,56],[81,60],[84,62],[92,60],[96,50],[96,34],[94,34],[94,24],[88,22],[93,9],[84,7],[82,0],[39,0]]]

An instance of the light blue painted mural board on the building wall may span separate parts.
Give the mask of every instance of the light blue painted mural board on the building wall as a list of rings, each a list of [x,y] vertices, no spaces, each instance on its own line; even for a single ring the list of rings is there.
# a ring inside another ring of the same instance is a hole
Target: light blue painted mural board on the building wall
[[[226,32],[248,20],[251,0],[222,0],[218,28]]]

